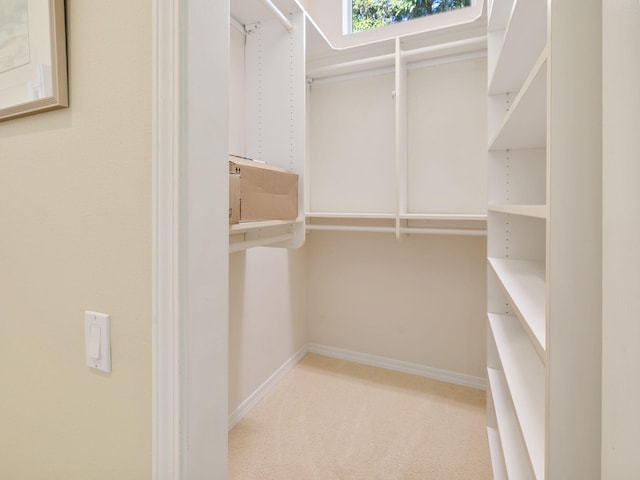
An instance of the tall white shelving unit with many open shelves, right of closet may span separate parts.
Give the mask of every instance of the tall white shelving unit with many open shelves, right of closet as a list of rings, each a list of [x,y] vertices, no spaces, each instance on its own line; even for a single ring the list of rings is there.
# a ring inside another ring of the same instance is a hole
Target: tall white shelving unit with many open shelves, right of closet
[[[584,7],[489,4],[487,426],[495,478],[600,476],[600,12]]]

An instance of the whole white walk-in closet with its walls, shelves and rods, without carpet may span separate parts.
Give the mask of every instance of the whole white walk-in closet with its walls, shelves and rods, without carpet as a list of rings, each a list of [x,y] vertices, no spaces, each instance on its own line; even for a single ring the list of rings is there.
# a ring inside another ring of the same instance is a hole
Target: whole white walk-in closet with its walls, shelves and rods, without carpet
[[[230,227],[230,426],[311,352],[486,390],[494,478],[596,478],[598,8],[343,7],[232,1],[230,154],[299,209]]]

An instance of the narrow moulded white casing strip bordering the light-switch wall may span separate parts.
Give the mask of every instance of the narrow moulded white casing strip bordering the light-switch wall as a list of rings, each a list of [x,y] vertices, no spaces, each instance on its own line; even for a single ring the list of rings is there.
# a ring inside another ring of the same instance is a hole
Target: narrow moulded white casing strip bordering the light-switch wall
[[[180,478],[179,38],[177,1],[153,1],[152,478]]]

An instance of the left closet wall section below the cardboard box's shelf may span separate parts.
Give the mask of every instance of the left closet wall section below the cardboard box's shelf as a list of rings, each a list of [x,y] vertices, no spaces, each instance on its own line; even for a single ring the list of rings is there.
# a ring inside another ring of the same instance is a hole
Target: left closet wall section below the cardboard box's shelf
[[[307,343],[306,249],[229,256],[229,413]]]

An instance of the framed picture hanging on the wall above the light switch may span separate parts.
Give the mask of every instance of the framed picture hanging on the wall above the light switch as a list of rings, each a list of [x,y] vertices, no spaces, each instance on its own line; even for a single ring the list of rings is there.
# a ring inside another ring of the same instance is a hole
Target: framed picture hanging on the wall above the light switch
[[[0,0],[0,121],[67,106],[64,0]]]

